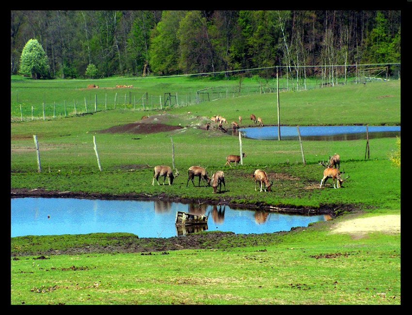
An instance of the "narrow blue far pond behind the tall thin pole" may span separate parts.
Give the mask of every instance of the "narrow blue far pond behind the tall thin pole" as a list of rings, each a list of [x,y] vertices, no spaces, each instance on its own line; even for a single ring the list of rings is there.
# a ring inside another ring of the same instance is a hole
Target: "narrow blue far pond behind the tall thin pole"
[[[240,128],[246,138],[278,140],[278,127]],[[342,141],[366,139],[366,126],[299,126],[302,141]],[[281,140],[299,140],[296,126],[281,126]],[[400,136],[400,126],[368,126],[369,139]]]

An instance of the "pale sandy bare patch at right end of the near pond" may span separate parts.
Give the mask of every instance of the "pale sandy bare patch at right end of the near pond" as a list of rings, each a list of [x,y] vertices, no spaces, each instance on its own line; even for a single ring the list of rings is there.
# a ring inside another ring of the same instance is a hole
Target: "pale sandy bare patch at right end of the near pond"
[[[370,232],[387,234],[400,233],[400,215],[383,215],[357,218],[333,225],[332,233],[348,233],[354,237],[363,237]]]

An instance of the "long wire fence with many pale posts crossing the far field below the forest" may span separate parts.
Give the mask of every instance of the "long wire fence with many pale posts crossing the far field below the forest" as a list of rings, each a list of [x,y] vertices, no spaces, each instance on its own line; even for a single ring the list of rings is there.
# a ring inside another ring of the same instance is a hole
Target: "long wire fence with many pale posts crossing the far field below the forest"
[[[362,65],[318,65],[318,66],[278,66],[237,70],[238,83],[206,87],[195,92],[166,91],[161,95],[147,92],[113,91],[99,92],[73,98],[70,101],[25,105],[12,100],[11,121],[48,120],[77,115],[85,115],[103,110],[166,110],[191,106],[205,101],[233,98],[251,94],[277,93],[277,78],[280,91],[304,91],[315,88],[347,84],[366,84],[375,81],[400,79],[400,63]],[[203,76],[227,75],[229,72],[196,74]],[[171,76],[169,76],[171,77]],[[248,80],[248,79],[251,80]],[[159,78],[161,79],[161,78]],[[252,81],[253,79],[253,81]],[[253,82],[253,84],[251,83]],[[21,98],[21,91],[20,98]]]

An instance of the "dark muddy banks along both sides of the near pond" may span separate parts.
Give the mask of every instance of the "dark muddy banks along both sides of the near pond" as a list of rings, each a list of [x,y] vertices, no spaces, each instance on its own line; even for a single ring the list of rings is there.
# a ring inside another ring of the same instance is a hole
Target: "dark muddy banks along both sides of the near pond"
[[[263,203],[256,204],[237,204],[232,203],[230,199],[212,200],[209,198],[181,198],[179,196],[169,196],[166,194],[149,195],[149,194],[102,194],[102,193],[85,193],[82,191],[50,191],[44,189],[11,189],[11,198],[24,198],[24,197],[42,197],[42,198],[80,198],[80,199],[106,199],[106,200],[165,200],[171,202],[179,202],[184,204],[198,204],[209,203],[213,205],[228,205],[243,209],[259,209],[264,211],[276,211],[288,214],[328,214],[332,218],[336,218],[342,212],[358,213],[361,210],[359,205],[321,205],[318,208],[308,207],[294,207],[287,205],[266,205]],[[339,211],[337,211],[339,210]],[[324,224],[330,224],[330,221],[322,222]],[[47,259],[44,256],[50,255],[78,255],[78,254],[91,254],[91,253],[141,253],[145,254],[168,254],[168,251],[176,251],[183,249],[225,249],[227,247],[238,246],[259,246],[267,244],[268,240],[274,242],[280,242],[279,236],[290,233],[291,231],[300,231],[312,227],[297,226],[292,227],[290,231],[279,231],[273,233],[266,233],[266,237],[262,238],[261,234],[235,234],[233,232],[219,232],[213,233],[199,233],[188,234],[186,236],[173,236],[173,237],[139,237],[139,236],[112,236],[111,234],[104,237],[110,245],[98,245],[94,243],[82,244],[82,246],[74,246],[66,249],[48,248],[43,250],[31,250],[26,249],[24,251],[13,251],[11,256],[13,259],[19,259],[21,256],[37,256],[38,259]],[[25,236],[28,244],[32,242],[38,242],[39,236]],[[76,236],[73,236],[76,237]],[[31,240],[36,238],[36,241]],[[222,247],[222,244],[226,244]],[[42,258],[44,257],[44,258]]]

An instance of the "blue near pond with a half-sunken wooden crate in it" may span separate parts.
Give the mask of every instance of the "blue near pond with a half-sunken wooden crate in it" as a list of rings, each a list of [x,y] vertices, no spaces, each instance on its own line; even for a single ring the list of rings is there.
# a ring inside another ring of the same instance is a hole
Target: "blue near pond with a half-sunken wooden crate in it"
[[[177,211],[206,214],[207,225],[177,229],[174,224]],[[98,232],[126,232],[139,237],[172,237],[202,230],[259,234],[289,231],[292,227],[307,226],[311,222],[328,219],[327,215],[287,215],[160,200],[11,199],[11,237]]]

